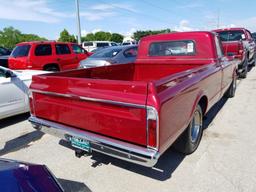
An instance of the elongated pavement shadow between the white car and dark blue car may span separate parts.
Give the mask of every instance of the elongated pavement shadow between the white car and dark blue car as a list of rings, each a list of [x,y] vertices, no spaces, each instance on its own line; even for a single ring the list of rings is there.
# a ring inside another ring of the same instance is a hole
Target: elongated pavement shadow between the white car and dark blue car
[[[7,141],[4,145],[4,148],[0,150],[0,156],[30,147],[32,145],[30,144],[31,142],[41,139],[43,135],[44,133],[40,131],[33,131],[20,137],[14,138],[10,141]]]

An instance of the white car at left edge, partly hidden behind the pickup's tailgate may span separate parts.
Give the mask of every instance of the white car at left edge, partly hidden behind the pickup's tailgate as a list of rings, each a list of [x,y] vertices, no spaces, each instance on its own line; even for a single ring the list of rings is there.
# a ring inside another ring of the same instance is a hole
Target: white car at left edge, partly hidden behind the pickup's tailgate
[[[28,91],[33,75],[45,71],[13,71],[0,66],[0,119],[29,111]]]

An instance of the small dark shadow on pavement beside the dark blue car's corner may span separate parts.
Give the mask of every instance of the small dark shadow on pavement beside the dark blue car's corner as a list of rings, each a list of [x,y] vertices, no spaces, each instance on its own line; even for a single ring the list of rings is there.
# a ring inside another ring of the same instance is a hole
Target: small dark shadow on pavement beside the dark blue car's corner
[[[91,192],[91,190],[84,184],[76,181],[66,179],[58,179],[64,191],[67,192]]]

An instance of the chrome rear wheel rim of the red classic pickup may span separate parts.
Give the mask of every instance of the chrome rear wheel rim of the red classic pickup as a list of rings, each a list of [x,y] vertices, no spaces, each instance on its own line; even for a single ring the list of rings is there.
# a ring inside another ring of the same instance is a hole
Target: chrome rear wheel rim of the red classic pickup
[[[201,128],[202,128],[201,113],[199,111],[195,111],[194,117],[192,120],[192,127],[191,127],[191,141],[193,143],[197,141],[200,135]]]

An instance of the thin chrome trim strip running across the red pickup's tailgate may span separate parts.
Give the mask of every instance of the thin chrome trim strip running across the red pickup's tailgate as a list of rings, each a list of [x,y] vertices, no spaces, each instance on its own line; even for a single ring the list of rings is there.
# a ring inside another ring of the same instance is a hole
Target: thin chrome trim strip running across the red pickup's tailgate
[[[35,93],[45,94],[45,95],[53,95],[53,96],[57,96],[57,97],[66,97],[66,98],[71,98],[71,99],[79,99],[79,100],[83,100],[83,101],[100,102],[100,103],[107,103],[107,104],[111,104],[111,105],[119,105],[119,106],[142,108],[142,109],[146,108],[145,105],[134,104],[134,103],[126,103],[126,102],[121,102],[121,101],[97,99],[97,98],[92,98],[92,97],[77,96],[77,95],[72,95],[72,94],[62,94],[62,93],[41,91],[41,90],[35,90],[35,89],[30,89],[30,91],[35,92]]]

